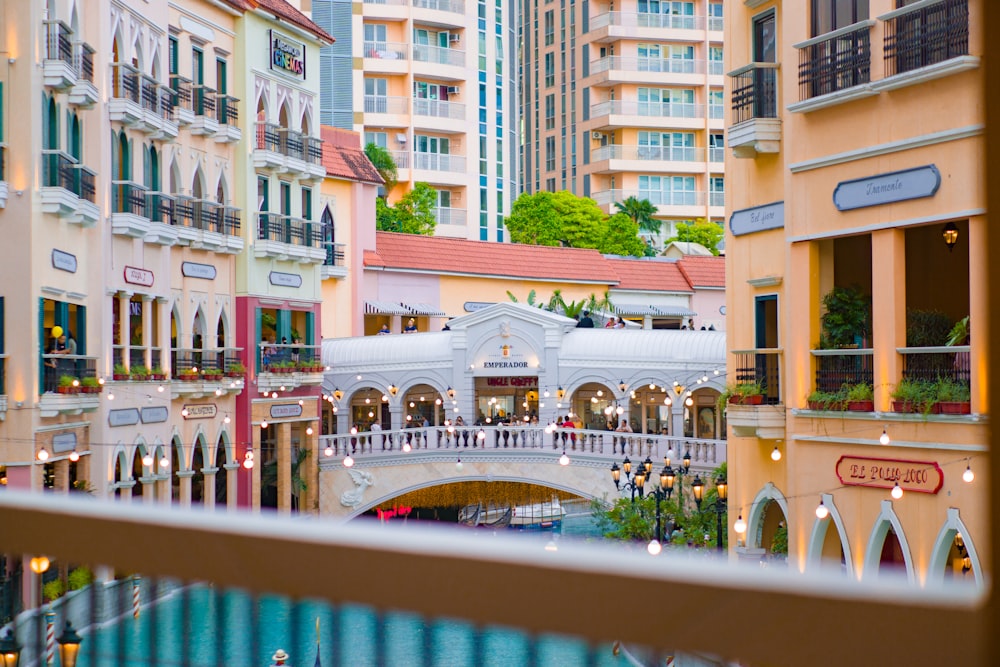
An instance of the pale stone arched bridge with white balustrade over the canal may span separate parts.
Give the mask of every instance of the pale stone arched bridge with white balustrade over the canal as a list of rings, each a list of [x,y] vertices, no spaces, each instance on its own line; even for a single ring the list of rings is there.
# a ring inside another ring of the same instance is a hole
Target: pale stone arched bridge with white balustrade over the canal
[[[319,509],[323,517],[347,520],[410,491],[469,481],[524,482],[611,499],[612,463],[649,457],[658,473],[664,457],[677,466],[688,453],[692,479],[706,477],[726,460],[726,441],[532,425],[326,435],[319,443]]]

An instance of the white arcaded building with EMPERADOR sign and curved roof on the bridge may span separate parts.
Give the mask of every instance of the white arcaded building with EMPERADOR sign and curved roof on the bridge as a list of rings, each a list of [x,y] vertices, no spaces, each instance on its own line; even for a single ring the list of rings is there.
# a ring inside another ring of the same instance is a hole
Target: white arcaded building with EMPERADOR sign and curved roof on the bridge
[[[725,334],[578,329],[500,303],[448,331],[323,341],[324,433],[411,426],[564,423],[714,439]]]

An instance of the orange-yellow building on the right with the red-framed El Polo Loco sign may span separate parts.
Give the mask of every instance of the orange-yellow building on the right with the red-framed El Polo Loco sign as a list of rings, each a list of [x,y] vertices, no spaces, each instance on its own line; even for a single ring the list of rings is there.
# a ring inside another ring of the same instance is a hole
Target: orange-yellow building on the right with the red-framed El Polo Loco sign
[[[982,3],[730,7],[737,552],[981,585]]]

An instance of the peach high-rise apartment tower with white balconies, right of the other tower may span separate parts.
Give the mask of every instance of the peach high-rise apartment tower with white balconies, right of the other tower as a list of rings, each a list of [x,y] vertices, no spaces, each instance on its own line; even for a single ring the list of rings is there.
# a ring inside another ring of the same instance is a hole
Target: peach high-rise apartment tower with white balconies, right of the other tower
[[[569,190],[609,214],[648,200],[657,246],[682,222],[721,222],[722,28],[710,0],[525,3],[523,191]]]

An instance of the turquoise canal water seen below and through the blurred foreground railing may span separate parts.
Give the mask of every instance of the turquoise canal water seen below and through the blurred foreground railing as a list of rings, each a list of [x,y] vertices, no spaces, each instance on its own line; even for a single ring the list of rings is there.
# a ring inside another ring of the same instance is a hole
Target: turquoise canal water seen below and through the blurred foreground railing
[[[138,620],[129,615],[85,635],[77,664],[264,667],[282,648],[290,655],[290,667],[313,667],[318,619],[323,667],[621,665],[610,644],[594,647],[591,655],[586,643],[572,638],[546,635],[533,641],[514,630],[477,632],[460,621],[427,623],[413,614],[387,613],[380,618],[364,607],[292,604],[261,596],[254,618],[254,605],[254,598],[242,592],[219,593],[202,586],[178,591],[155,609],[144,608]]]

